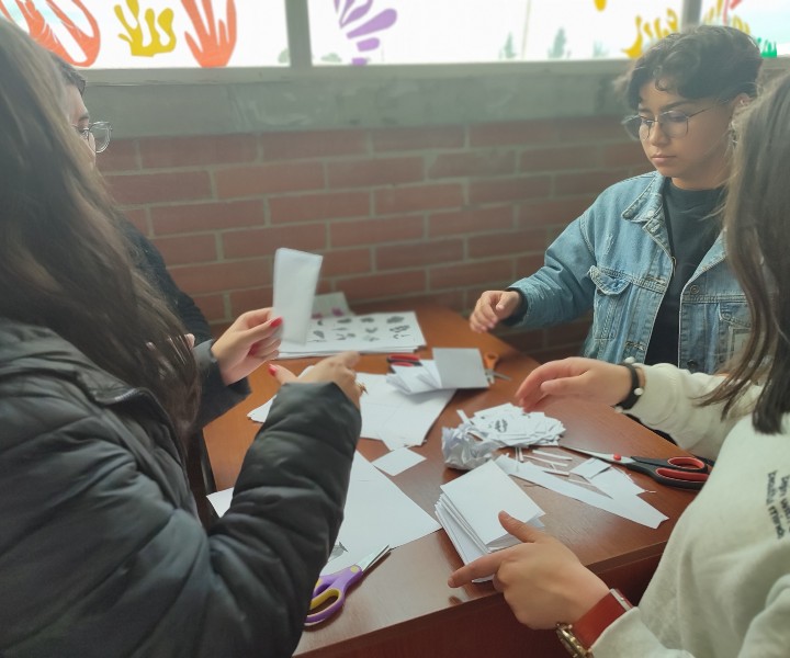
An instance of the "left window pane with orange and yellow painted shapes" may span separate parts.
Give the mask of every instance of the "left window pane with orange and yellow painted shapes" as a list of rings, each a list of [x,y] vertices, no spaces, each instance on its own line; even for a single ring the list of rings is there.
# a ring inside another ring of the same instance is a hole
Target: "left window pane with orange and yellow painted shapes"
[[[52,37],[40,43],[79,67],[289,64],[283,0],[0,0],[2,15],[29,32],[43,21]]]

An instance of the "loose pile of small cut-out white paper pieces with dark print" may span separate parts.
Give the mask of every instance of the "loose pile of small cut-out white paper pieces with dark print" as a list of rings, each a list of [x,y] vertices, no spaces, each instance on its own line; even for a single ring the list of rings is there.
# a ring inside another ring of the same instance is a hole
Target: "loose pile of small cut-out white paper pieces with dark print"
[[[511,404],[477,411],[470,422],[482,436],[501,445],[556,445],[565,427],[540,411],[527,413]]]

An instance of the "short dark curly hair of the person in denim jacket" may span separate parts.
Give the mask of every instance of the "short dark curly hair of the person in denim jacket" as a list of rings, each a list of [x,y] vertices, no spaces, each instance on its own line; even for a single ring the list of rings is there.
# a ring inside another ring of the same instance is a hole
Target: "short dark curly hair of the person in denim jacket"
[[[669,34],[651,46],[617,83],[632,110],[640,91],[653,82],[686,99],[729,101],[757,94],[763,57],[755,41],[735,27],[699,25]]]

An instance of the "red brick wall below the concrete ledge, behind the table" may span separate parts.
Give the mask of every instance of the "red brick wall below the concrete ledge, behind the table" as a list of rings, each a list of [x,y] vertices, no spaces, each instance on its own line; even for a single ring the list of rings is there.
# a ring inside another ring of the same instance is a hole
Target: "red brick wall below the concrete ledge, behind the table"
[[[278,247],[324,254],[319,292],[467,313],[533,272],[605,186],[646,169],[617,120],[113,141],[115,197],[219,331],[271,304]],[[582,319],[504,337],[575,353]]]

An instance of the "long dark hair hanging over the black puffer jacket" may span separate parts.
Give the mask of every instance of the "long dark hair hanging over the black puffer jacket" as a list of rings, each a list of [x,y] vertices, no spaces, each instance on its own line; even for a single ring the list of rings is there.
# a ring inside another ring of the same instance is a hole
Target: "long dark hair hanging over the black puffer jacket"
[[[0,315],[56,331],[185,431],[199,383],[183,326],[129,260],[59,72],[3,20],[0,71]]]

